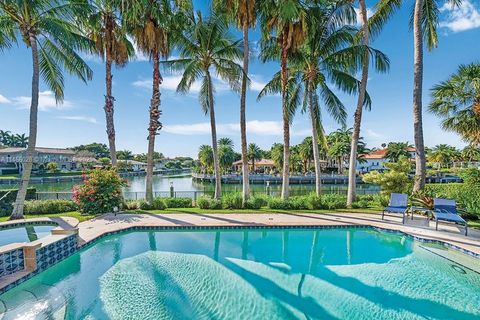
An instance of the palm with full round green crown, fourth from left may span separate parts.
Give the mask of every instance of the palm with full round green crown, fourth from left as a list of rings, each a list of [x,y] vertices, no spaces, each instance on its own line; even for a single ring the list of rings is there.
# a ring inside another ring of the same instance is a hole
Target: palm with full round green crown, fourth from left
[[[212,71],[228,82],[232,90],[239,91],[240,79],[244,74],[242,67],[235,62],[243,55],[240,42],[231,38],[221,16],[212,14],[204,20],[198,14],[197,21],[179,35],[181,57],[166,63],[173,70],[183,71],[177,88],[180,93],[188,92],[195,81],[201,80],[200,104],[205,114],[210,115],[216,199],[221,197],[222,190]]]

